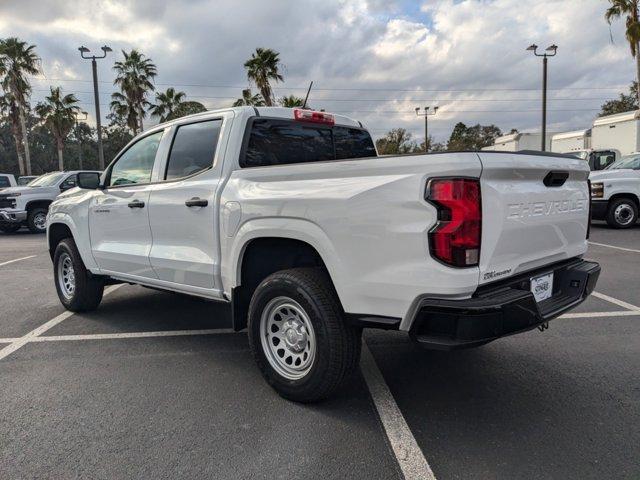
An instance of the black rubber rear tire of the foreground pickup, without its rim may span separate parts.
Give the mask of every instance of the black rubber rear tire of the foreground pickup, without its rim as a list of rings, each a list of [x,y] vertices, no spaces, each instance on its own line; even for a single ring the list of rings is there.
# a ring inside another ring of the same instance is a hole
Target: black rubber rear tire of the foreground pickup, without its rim
[[[316,341],[310,369],[294,380],[272,366],[262,343],[263,312],[270,302],[282,297],[302,307]],[[360,359],[362,330],[347,324],[331,279],[317,268],[283,270],[260,283],[249,305],[248,331],[253,357],[264,378],[278,394],[296,402],[316,402],[330,396],[351,376]]]

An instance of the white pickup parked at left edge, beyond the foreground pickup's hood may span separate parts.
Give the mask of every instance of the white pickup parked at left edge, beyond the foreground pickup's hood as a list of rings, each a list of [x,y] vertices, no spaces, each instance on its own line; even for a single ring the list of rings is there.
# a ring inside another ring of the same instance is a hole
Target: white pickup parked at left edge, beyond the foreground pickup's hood
[[[44,233],[49,205],[60,192],[76,186],[77,176],[77,171],[51,172],[28,185],[0,190],[0,232],[17,232],[26,225],[34,233]]]

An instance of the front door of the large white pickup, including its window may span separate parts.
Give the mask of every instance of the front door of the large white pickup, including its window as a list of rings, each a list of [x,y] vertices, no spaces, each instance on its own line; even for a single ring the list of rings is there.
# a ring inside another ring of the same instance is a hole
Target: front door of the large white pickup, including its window
[[[92,200],[91,248],[105,272],[157,278],[149,263],[149,197],[162,135],[147,135],[125,150],[107,171],[105,188]]]

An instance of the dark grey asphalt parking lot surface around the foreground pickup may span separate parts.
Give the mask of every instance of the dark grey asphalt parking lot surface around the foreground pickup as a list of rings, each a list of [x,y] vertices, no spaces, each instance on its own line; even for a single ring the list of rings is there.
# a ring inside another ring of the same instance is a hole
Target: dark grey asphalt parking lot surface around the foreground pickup
[[[402,478],[415,442],[438,479],[640,478],[640,227],[591,242],[597,295],[547,331],[459,352],[368,331],[373,367],[298,405],[220,305],[124,285],[65,314],[44,237],[0,235],[1,477]]]

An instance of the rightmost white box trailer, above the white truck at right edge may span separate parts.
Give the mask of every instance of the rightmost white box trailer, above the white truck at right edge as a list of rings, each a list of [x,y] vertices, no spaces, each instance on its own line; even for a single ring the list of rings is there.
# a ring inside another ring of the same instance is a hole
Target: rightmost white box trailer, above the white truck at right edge
[[[615,149],[622,155],[640,151],[640,110],[597,118],[591,129],[591,148]]]

